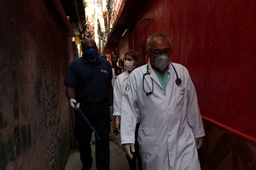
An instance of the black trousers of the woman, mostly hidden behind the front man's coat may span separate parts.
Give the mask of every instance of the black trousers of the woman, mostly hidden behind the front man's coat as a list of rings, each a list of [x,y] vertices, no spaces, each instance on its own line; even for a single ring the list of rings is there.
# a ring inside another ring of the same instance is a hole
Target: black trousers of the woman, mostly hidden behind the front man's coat
[[[135,143],[134,143],[135,153],[132,153],[133,158],[130,159],[130,157],[126,155],[126,158],[128,160],[129,166],[130,166],[130,170],[136,170],[136,160],[137,159],[138,159],[138,169],[142,170],[142,162],[141,162],[141,156],[140,156],[140,152],[139,152],[139,143],[138,143],[139,127],[140,127],[140,123],[137,123],[136,129],[135,129]]]

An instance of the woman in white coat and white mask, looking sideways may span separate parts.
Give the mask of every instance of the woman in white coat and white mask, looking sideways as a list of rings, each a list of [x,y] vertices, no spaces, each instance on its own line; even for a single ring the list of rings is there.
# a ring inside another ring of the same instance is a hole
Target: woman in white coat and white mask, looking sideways
[[[122,74],[118,75],[115,85],[114,85],[114,122],[115,122],[115,129],[120,132],[119,125],[120,125],[120,118],[121,118],[121,110],[122,110],[122,98],[123,93],[125,92],[127,80],[129,78],[130,73],[137,67],[140,67],[142,64],[141,56],[140,54],[135,50],[129,50],[124,55],[124,67],[126,68],[126,71]],[[138,168],[139,170],[142,170],[142,162],[141,157],[139,153],[139,144],[138,144],[138,130],[140,127],[140,117],[139,117],[139,111],[137,111],[137,124],[136,124],[136,130],[135,130],[135,148],[137,152],[133,153],[133,159],[131,159],[129,156],[127,157],[130,170],[136,170],[136,160],[138,158]]]

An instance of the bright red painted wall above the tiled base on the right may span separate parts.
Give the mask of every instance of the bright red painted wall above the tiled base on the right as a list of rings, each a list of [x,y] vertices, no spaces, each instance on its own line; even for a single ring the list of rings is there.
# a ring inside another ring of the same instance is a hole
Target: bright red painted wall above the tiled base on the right
[[[171,61],[189,70],[202,115],[256,137],[253,2],[149,0],[135,27],[149,18],[148,33],[170,37]]]

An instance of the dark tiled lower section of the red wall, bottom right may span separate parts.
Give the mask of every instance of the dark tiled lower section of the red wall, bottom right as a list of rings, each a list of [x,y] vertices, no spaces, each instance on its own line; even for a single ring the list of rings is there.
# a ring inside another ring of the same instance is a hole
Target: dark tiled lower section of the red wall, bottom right
[[[202,170],[255,170],[256,142],[203,119],[206,136],[198,156]]]

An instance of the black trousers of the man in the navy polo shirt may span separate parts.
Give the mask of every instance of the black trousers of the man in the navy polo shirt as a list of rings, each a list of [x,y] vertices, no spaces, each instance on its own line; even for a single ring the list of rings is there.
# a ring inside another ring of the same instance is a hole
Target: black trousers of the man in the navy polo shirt
[[[109,100],[102,103],[80,102],[80,109],[100,137],[100,140],[96,139],[95,141],[97,170],[109,170]],[[93,162],[90,145],[93,131],[87,125],[79,111],[75,111],[75,122],[76,126],[74,127],[74,133],[78,141],[80,160],[83,163],[82,170],[89,170]]]

